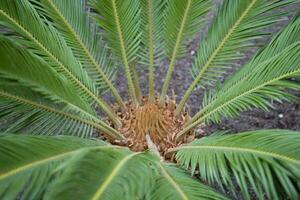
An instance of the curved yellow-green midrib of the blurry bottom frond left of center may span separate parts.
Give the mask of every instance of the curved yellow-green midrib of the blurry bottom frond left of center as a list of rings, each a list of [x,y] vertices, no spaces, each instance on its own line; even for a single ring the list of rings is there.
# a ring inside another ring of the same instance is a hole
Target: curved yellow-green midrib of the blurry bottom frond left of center
[[[110,175],[105,179],[105,181],[100,185],[100,187],[96,190],[96,193],[93,195],[92,200],[98,200],[105,192],[106,188],[109,186],[111,181],[117,176],[118,172],[125,165],[125,163],[131,159],[132,157],[141,154],[141,152],[132,153],[128,156],[125,156],[118,164],[112,169]]]

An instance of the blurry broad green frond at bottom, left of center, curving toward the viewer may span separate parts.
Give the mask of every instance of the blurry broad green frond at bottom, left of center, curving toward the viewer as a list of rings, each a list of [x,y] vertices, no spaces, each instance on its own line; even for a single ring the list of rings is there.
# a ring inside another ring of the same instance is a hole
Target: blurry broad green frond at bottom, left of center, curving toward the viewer
[[[154,169],[147,153],[84,152],[63,169],[45,199],[142,199],[151,187]]]

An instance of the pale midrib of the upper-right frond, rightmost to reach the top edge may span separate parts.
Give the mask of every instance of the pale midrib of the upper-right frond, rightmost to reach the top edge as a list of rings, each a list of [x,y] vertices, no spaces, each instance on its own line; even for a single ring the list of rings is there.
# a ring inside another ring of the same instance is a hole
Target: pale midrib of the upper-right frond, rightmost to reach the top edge
[[[234,31],[236,30],[236,28],[240,25],[240,23],[243,21],[243,19],[247,16],[247,14],[249,13],[249,11],[251,10],[251,8],[255,5],[255,3],[257,2],[257,0],[253,0],[251,2],[251,4],[249,5],[249,7],[247,7],[247,9],[243,12],[243,14],[240,16],[240,18],[234,23],[234,25],[229,29],[228,33],[225,35],[225,37],[222,39],[222,41],[220,42],[220,44],[218,45],[218,47],[213,51],[213,53],[210,55],[209,59],[207,60],[206,64],[203,66],[203,68],[201,69],[201,71],[199,72],[199,74],[197,75],[197,77],[195,78],[195,80],[192,82],[192,84],[190,85],[190,87],[188,88],[188,90],[186,91],[186,93],[184,94],[182,100],[180,101],[180,103],[178,104],[178,107],[176,109],[176,115],[179,115],[180,111],[182,110],[185,102],[188,100],[188,98],[190,97],[190,95],[192,94],[193,90],[195,89],[195,87],[197,86],[197,84],[199,83],[200,79],[203,77],[203,75],[205,74],[205,71],[210,67],[210,65],[212,64],[212,62],[214,61],[215,57],[218,55],[219,51],[221,51],[221,49],[224,47],[224,45],[226,44],[226,42],[228,41],[228,39],[230,38],[230,36],[234,33]]]

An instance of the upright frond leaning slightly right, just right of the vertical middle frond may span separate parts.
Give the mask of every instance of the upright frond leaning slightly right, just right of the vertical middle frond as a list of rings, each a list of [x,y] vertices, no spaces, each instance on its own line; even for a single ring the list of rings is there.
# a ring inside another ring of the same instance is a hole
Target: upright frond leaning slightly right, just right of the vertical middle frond
[[[165,52],[170,58],[167,75],[161,92],[161,102],[169,88],[176,58],[185,53],[190,38],[199,31],[205,21],[203,17],[211,7],[209,0],[168,0],[165,14]]]

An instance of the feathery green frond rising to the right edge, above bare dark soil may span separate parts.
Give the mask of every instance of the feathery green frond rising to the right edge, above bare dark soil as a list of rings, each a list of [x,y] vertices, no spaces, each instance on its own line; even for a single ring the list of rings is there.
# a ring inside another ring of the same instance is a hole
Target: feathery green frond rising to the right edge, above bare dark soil
[[[222,89],[210,91],[200,110],[178,137],[201,122],[218,123],[223,118],[235,117],[253,107],[268,110],[272,101],[294,100],[283,89],[299,89],[290,78],[300,72],[300,18],[293,20],[267,47],[225,82]]]

